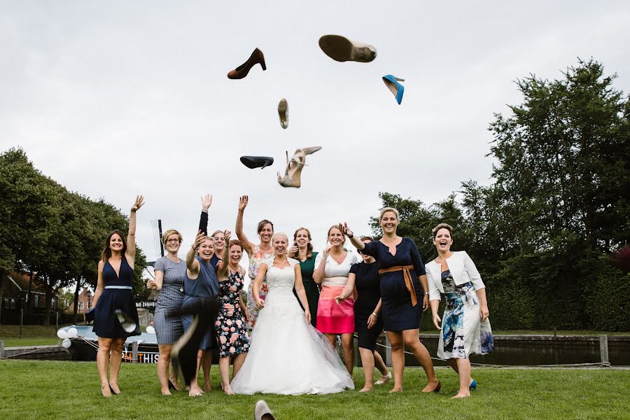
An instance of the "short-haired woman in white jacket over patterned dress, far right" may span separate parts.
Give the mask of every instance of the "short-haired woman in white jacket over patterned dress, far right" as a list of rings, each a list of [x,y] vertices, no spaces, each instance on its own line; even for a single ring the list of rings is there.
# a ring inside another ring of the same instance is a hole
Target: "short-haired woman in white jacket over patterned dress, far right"
[[[433,244],[437,258],[426,265],[426,276],[433,324],[441,330],[437,357],[447,359],[459,374],[459,392],[454,398],[469,397],[470,389],[477,388],[477,381],[470,377],[468,357],[490,353],[494,347],[486,286],[468,253],[451,251],[451,226],[446,223],[435,226]],[[447,300],[443,320],[437,314],[442,294]]]

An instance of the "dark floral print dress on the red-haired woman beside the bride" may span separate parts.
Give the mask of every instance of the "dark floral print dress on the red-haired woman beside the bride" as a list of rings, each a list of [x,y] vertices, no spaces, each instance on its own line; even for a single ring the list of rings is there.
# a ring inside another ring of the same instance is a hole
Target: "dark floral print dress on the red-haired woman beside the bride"
[[[214,323],[219,357],[236,356],[249,350],[247,325],[239,302],[240,292],[245,284],[245,274],[241,269],[236,272],[229,271],[228,278],[219,282],[221,293],[218,302],[221,309]]]

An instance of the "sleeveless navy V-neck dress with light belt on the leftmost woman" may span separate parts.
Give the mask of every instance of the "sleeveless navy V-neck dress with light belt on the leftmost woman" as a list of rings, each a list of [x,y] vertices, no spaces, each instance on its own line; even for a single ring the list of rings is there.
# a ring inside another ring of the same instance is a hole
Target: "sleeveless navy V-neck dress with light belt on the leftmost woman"
[[[94,307],[94,334],[103,338],[127,338],[131,335],[140,335],[138,311],[132,289],[133,279],[134,269],[130,267],[124,255],[120,261],[119,275],[116,275],[109,260],[105,261],[103,266],[105,288]],[[123,330],[114,314],[116,309],[120,309],[136,321],[137,327],[134,332]]]

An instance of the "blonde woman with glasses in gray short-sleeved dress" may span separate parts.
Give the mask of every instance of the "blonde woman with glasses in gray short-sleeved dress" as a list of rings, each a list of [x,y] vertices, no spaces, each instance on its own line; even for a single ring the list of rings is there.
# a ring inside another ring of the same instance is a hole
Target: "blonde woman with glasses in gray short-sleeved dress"
[[[162,235],[162,244],[167,255],[155,261],[155,280],[151,279],[146,283],[147,288],[160,290],[158,302],[155,304],[153,323],[160,350],[158,379],[160,379],[162,395],[171,395],[169,388],[179,389],[176,372],[172,371],[169,378],[169,363],[172,345],[183,334],[183,326],[179,316],[167,317],[167,314],[169,311],[179,309],[184,297],[186,261],[177,256],[181,241],[181,234],[174,229],[169,229]]]

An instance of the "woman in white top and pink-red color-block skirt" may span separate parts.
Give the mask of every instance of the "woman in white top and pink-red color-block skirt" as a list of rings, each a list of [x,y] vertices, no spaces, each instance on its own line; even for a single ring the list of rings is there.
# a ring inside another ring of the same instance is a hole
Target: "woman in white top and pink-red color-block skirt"
[[[334,225],[328,229],[328,244],[315,260],[313,279],[321,284],[321,293],[317,304],[317,329],[329,340],[337,344],[337,334],[342,337],[344,363],[349,374],[354,367],[354,299],[348,298],[337,303],[335,297],[341,295],[348,281],[350,267],[361,258],[356,253],[344,249],[346,238]]]

